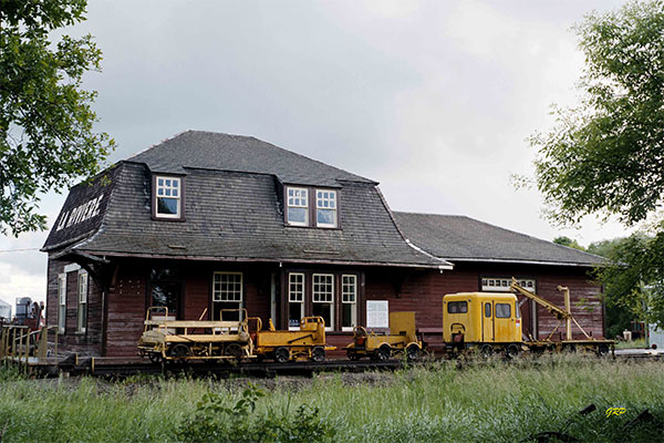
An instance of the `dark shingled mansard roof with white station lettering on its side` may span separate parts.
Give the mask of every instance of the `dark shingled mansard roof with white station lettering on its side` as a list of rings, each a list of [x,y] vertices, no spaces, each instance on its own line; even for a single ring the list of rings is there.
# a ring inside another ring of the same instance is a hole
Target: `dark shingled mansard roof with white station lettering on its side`
[[[185,175],[185,222],[153,218],[154,173]],[[72,188],[43,250],[55,256],[452,267],[405,240],[376,182],[252,137],[187,132],[121,162],[103,177]],[[339,188],[340,228],[287,226],[283,183]],[[74,210],[82,215],[70,218]]]

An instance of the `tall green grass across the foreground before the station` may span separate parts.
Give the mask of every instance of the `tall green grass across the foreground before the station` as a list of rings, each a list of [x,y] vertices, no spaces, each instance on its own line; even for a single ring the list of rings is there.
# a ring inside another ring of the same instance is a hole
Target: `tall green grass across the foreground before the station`
[[[132,378],[23,380],[0,372],[1,442],[174,442],[205,394],[229,406],[249,381]],[[457,362],[396,373],[253,380],[266,392],[252,423],[301,404],[339,442],[518,442],[542,431],[579,441],[662,441],[664,363],[542,357],[516,363]],[[578,411],[593,403],[596,411]],[[625,408],[606,416],[609,408]],[[624,429],[644,409],[654,419]],[[249,419],[245,420],[249,421]],[[298,440],[290,440],[298,441]]]

